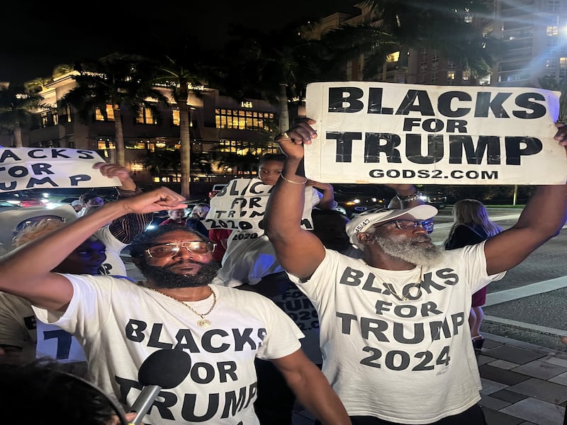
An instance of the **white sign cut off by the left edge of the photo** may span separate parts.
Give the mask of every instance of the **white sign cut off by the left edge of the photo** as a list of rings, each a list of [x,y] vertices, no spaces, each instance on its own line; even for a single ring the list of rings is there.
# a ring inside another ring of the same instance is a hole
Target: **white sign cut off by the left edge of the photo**
[[[95,151],[62,147],[0,148],[0,193],[33,188],[120,186],[93,165],[104,162]]]

